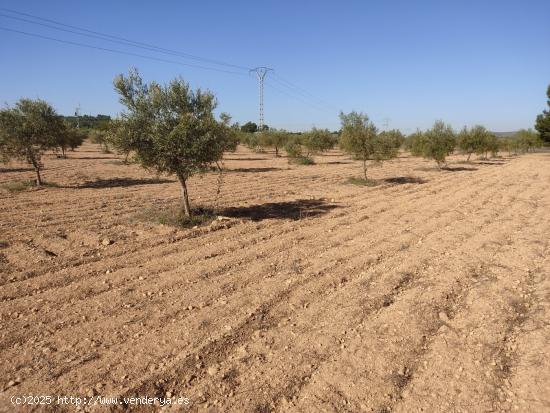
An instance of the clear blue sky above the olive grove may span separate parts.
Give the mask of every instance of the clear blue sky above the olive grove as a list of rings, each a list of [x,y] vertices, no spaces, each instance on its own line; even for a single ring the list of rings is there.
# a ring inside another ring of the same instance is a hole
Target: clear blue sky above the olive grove
[[[0,0],[0,7],[239,66],[270,66],[315,96],[268,75],[266,123],[290,130],[337,129],[339,110],[366,112],[379,127],[389,118],[390,128],[406,133],[436,119],[516,130],[532,127],[550,83],[548,0]],[[0,26],[193,63],[1,16]],[[212,90],[235,121],[258,118],[257,82],[244,70],[209,71],[2,30],[0,56],[2,103],[40,97],[63,114],[80,104],[83,113],[114,115],[121,107],[113,77],[135,66],[148,81],[181,75]]]

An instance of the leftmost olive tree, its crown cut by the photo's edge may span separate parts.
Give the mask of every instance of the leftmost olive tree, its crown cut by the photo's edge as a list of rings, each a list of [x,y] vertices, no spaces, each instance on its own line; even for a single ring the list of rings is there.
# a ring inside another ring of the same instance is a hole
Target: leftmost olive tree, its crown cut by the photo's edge
[[[65,125],[55,109],[37,99],[20,99],[14,107],[0,110],[0,149],[2,159],[19,159],[32,165],[36,185],[42,185],[42,155],[58,146]]]

